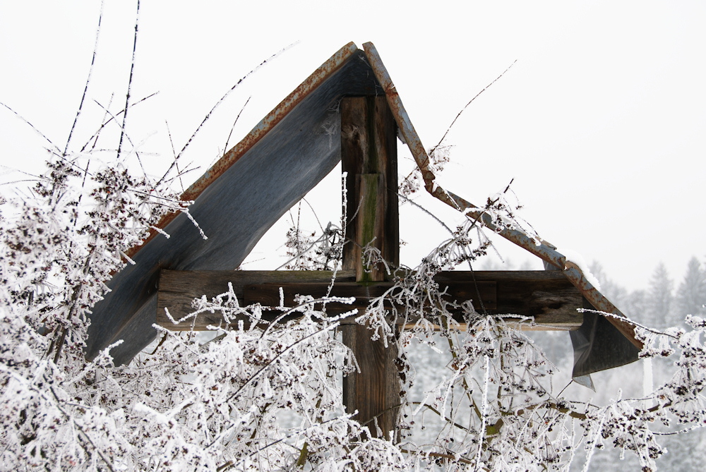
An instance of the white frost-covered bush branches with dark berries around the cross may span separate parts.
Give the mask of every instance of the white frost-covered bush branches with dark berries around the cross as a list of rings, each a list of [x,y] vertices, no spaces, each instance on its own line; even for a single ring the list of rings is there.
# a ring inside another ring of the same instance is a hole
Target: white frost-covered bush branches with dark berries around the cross
[[[706,322],[698,313],[683,329],[638,327],[640,356],[677,358],[671,377],[645,397],[618,394],[597,405],[557,392],[556,366],[518,329],[531,319],[451,301],[435,276],[486,255],[486,228],[520,229],[539,242],[518,216],[510,186],[487,200],[481,217],[443,223],[448,239],[417,267],[393,267],[380,251],[364,248],[366,265],[384,267],[393,281],[364,313],[331,316],[316,308],[350,300],[307,294],[295,306],[243,306],[230,287],[210,300],[196,298],[184,318],[220,313],[210,341],[158,327],[155,346],[129,365],[112,362],[116,344],[87,361],[88,315],[105,282],[132,263],[130,248],[151,231],[164,234],[157,229],[164,214],[188,212],[189,202],[167,183],[181,176],[177,159],[191,138],[161,179],[126,164],[138,159],[138,149],[131,149],[125,124],[116,149],[98,158],[99,135],[103,141],[108,123],[126,123],[126,104],[106,109],[107,119],[78,152],[70,138],[64,152],[49,142],[47,168],[31,188],[0,197],[2,469],[568,471],[579,458],[588,470],[595,450],[614,447],[635,454],[647,472],[659,464],[664,435],[706,425]],[[429,169],[440,171],[448,150],[433,148]],[[415,169],[400,193],[414,193],[421,181]],[[318,234],[302,229],[299,215],[292,218],[287,268],[340,268],[349,216],[340,227],[320,225]],[[698,288],[698,270],[693,265],[690,287]],[[700,300],[697,292],[688,298]],[[371,338],[397,348],[400,415],[390,441],[371,437],[374,421],[361,425],[344,413],[339,375],[357,360],[337,329],[352,317]],[[436,363],[426,367],[440,380],[422,375],[424,366],[412,361],[415,345],[430,347]],[[421,398],[412,396],[415,384]]]

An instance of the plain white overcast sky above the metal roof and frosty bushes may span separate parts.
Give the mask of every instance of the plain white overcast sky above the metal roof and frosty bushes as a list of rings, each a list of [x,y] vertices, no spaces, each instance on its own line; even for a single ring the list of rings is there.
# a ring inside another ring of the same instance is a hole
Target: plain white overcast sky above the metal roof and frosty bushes
[[[85,120],[124,102],[136,2],[105,0]],[[0,2],[0,101],[64,143],[90,64],[100,1]],[[706,3],[702,1],[156,1],[140,7],[131,110],[136,140],[169,162],[215,100],[293,42],[229,97],[186,160],[201,175],[316,67],[349,41],[378,52],[422,141],[448,136],[443,185],[482,204],[514,178],[524,217],[561,248],[599,260],[637,289],[659,261],[676,284],[706,250]],[[95,101],[94,101],[95,100]],[[0,109],[0,164],[37,171],[43,143]],[[7,186],[4,187],[6,191]],[[420,214],[403,222],[424,234]],[[515,262],[525,259],[498,246]],[[414,261],[403,261],[413,264]],[[534,267],[539,268],[539,264]]]

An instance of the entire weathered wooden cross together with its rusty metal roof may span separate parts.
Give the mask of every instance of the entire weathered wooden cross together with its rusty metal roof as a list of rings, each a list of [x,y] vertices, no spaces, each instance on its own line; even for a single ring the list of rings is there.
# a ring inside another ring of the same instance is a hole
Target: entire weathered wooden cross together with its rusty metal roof
[[[116,364],[131,361],[157,335],[152,326],[155,308],[157,323],[169,329],[222,325],[222,317],[211,313],[199,313],[195,319],[174,325],[164,308],[180,319],[193,311],[193,298],[223,294],[229,283],[244,305],[280,305],[280,287],[288,305],[297,294],[328,294],[331,272],[232,269],[341,157],[348,174],[348,243],[343,269],[337,273],[330,295],[354,296],[354,307],[365,310],[371,298],[381,296],[392,282],[386,280],[380,265],[363,266],[361,248],[371,243],[391,266],[399,263],[395,164],[399,131],[433,197],[558,269],[441,272],[436,282],[445,289],[449,301],[472,301],[479,313],[527,317],[519,323],[521,329],[570,330],[577,359],[575,375],[637,360],[642,344],[635,339],[632,325],[621,319],[620,311],[587,281],[579,267],[546,241],[537,241],[510,226],[493,226],[485,210],[438,186],[429,156],[378,52],[372,43],[363,47],[346,44],[313,71],[186,190],[182,198],[193,200],[188,215],[164,215],[146,241],[126,252],[135,264],[107,281],[109,293],[93,307],[86,357],[95,358],[112,346],[110,354]],[[334,126],[329,130],[339,118],[341,129]],[[333,139],[334,135],[340,135],[340,140]],[[192,219],[201,230],[193,227]],[[170,235],[169,241],[162,233]],[[585,304],[586,299],[590,304]],[[582,315],[576,311],[582,306],[615,316]],[[350,308],[328,303],[326,312],[336,314]],[[263,320],[274,320],[277,315],[265,311]],[[407,321],[414,322],[414,316],[407,316]],[[378,428],[387,435],[395,424],[399,403],[395,353],[373,343],[371,332],[354,325],[351,318],[344,320],[341,330],[361,367],[359,374],[345,380],[347,409],[359,411],[356,419],[361,423],[374,419],[369,423],[373,435],[378,435]],[[117,345],[119,339],[124,342]]]

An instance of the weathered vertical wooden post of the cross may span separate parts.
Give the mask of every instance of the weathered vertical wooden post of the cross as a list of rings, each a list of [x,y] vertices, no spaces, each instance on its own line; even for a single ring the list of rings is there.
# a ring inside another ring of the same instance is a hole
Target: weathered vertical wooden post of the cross
[[[347,97],[340,109],[342,170],[348,173],[346,238],[352,241],[344,248],[343,267],[355,270],[358,282],[383,281],[385,267],[364,267],[361,256],[370,244],[395,267],[400,263],[395,119],[385,97]],[[373,437],[380,428],[390,439],[400,404],[396,346],[371,341],[365,326],[347,325],[342,332],[360,367],[343,379],[346,411],[358,411],[354,419]]]

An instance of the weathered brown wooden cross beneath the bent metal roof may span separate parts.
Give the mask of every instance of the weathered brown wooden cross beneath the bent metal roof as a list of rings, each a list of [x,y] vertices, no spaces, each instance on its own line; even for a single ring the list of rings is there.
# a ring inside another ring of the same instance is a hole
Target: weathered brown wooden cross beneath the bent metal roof
[[[369,300],[393,285],[381,264],[364,267],[362,248],[380,250],[391,267],[400,265],[399,217],[397,210],[397,126],[385,97],[345,97],[340,104],[342,170],[347,172],[346,240],[342,270],[337,272],[331,296],[354,296],[354,308],[365,310]],[[216,296],[230,282],[241,303],[280,305],[280,287],[285,305],[292,306],[297,294],[325,296],[330,271],[174,271],[162,270],[157,298],[157,323],[168,329],[205,329],[221,325],[222,317],[201,313],[196,320],[174,325],[174,319],[193,310],[193,298]],[[534,329],[578,329],[583,315],[582,296],[561,272],[441,272],[436,277],[448,298],[481,303],[491,314],[515,313],[534,316]],[[479,301],[478,298],[481,298]],[[327,313],[352,309],[351,305],[327,303]],[[276,315],[272,315],[273,319]],[[266,318],[266,317],[265,317]],[[400,404],[400,379],[395,367],[395,344],[372,341],[371,331],[351,318],[343,320],[344,343],[352,349],[359,373],[345,377],[343,400],[354,419],[368,424],[390,439]],[[373,423],[374,422],[374,423]],[[376,424],[375,424],[376,423]],[[377,428],[376,428],[377,426]]]

